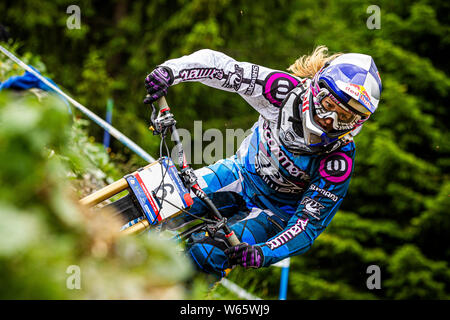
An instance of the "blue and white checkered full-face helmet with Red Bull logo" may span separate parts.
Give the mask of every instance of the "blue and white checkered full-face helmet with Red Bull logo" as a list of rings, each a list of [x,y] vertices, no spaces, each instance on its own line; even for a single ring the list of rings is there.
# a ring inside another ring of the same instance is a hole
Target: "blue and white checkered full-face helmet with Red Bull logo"
[[[347,134],[356,135],[377,109],[381,90],[381,78],[371,56],[347,53],[327,63],[312,79],[310,92],[304,95],[299,106],[305,144],[316,149],[335,143]],[[323,108],[321,101],[325,97],[354,117],[340,122],[336,112]],[[314,121],[315,115],[333,118],[333,129],[326,132]]]

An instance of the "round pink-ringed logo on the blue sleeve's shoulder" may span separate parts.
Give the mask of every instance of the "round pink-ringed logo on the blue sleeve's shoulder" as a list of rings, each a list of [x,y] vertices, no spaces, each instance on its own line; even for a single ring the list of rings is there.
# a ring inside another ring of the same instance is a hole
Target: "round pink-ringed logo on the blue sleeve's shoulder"
[[[319,173],[330,183],[342,183],[350,177],[352,164],[352,159],[345,153],[332,153],[320,161]]]

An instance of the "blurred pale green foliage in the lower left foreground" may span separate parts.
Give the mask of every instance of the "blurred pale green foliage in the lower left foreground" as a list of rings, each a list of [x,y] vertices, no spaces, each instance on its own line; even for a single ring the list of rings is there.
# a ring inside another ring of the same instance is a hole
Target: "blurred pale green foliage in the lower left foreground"
[[[0,119],[0,282],[7,288],[0,298],[186,296],[192,269],[174,243],[153,234],[121,237],[123,222],[77,204],[68,176],[89,172],[86,162],[102,172],[96,180],[117,169],[79,127],[72,130],[59,99],[2,94]],[[70,290],[73,265],[79,290]]]

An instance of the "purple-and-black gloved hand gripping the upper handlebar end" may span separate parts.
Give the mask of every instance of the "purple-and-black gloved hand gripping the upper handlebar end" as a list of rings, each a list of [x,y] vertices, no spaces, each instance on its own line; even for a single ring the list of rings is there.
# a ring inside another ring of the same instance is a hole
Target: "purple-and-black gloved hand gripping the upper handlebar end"
[[[149,94],[144,103],[150,104],[167,95],[167,89],[173,83],[173,73],[167,67],[157,67],[145,78],[145,88]]]

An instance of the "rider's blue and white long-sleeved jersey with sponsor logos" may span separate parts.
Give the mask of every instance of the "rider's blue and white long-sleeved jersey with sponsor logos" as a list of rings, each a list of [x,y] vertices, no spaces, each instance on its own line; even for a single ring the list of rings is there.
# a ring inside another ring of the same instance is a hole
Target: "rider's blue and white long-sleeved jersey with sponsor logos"
[[[174,84],[199,81],[236,92],[259,112],[232,161],[243,177],[245,198],[283,220],[284,230],[256,244],[262,247],[265,266],[309,249],[345,197],[355,157],[352,140],[325,154],[293,154],[280,142],[280,106],[292,89],[310,80],[206,49],[162,66],[172,70]]]

